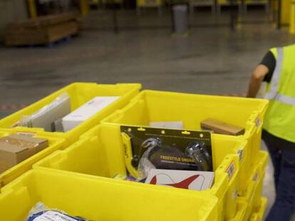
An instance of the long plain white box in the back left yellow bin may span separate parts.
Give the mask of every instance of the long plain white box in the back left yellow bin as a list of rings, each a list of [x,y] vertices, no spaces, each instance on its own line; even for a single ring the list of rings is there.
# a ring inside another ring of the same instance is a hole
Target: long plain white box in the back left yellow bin
[[[86,104],[83,104],[66,117],[63,117],[63,131],[70,131],[90,117],[93,117],[93,115],[100,112],[100,110],[104,109],[109,104],[115,102],[118,98],[119,97],[94,97],[90,99]]]

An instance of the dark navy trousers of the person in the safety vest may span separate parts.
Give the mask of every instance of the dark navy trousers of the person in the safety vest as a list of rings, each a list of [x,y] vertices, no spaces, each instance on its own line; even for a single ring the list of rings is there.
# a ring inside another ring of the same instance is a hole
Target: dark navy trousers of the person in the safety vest
[[[266,221],[289,221],[295,210],[295,144],[263,131],[274,165],[276,198]]]

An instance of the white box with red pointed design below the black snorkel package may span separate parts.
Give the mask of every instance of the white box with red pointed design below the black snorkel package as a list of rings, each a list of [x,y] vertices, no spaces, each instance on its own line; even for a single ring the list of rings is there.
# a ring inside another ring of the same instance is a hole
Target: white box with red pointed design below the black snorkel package
[[[214,172],[151,169],[145,183],[188,190],[207,190],[212,187]]]

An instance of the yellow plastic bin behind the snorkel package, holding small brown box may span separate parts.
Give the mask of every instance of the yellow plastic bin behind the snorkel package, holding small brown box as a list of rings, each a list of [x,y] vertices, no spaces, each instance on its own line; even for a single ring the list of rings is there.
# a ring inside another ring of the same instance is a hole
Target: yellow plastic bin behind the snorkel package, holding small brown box
[[[200,122],[207,118],[245,128],[243,136],[217,137],[245,139],[244,164],[241,166],[243,182],[239,190],[244,193],[249,180],[249,168],[254,168],[261,145],[262,123],[268,101],[240,97],[191,95],[176,92],[144,90],[130,104],[110,114],[102,122],[149,126],[150,122],[182,122],[184,129],[200,130]],[[251,170],[250,170],[251,171]]]

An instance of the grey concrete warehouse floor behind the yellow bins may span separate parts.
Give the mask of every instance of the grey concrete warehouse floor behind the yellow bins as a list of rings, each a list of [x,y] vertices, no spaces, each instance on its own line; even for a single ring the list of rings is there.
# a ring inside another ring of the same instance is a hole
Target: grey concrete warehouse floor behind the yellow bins
[[[170,17],[157,16],[156,11],[143,11],[140,17],[120,13],[120,26],[129,28],[118,34],[112,33],[111,18],[107,12],[91,12],[81,36],[53,49],[1,46],[0,104],[31,104],[77,81],[141,82],[155,90],[242,95],[266,51],[295,42],[287,30],[276,31],[267,23],[232,32],[222,25],[229,21],[227,13],[215,18],[208,11],[196,12],[190,19],[199,27],[192,28],[189,38],[171,38]],[[249,12],[244,19],[266,21],[266,16],[264,11]],[[214,22],[219,28],[201,27]],[[272,183],[269,164],[264,180],[269,206],[274,200]]]

